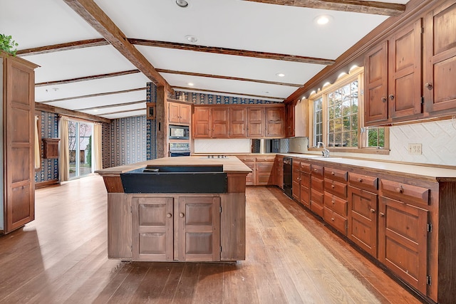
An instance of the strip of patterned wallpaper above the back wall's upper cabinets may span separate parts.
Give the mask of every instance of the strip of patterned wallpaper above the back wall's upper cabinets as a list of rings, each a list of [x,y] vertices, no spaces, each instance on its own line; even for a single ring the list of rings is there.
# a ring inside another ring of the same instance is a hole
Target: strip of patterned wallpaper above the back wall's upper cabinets
[[[192,93],[176,91],[175,98],[180,99],[181,95],[185,95],[185,100],[191,101],[195,105],[251,105],[251,104],[266,104],[274,103],[269,100],[259,100],[252,98],[239,98],[232,96],[213,95],[204,93]]]

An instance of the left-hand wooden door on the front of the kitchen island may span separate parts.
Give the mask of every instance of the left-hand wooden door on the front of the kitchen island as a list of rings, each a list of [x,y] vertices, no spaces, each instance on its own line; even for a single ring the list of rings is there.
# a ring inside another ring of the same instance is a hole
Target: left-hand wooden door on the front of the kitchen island
[[[172,197],[132,199],[133,260],[173,260]]]

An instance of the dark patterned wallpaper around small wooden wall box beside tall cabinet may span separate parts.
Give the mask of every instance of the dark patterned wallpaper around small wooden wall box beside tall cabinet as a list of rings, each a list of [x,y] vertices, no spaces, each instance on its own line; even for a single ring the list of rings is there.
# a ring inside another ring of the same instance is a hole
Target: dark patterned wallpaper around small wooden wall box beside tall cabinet
[[[41,111],[41,138],[58,137],[58,115]],[[58,159],[43,159],[41,142],[41,170],[35,172],[35,182],[58,180]]]

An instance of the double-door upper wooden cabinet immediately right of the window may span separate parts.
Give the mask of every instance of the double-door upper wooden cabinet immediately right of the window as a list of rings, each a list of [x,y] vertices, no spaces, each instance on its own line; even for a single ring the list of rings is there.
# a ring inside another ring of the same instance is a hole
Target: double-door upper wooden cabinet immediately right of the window
[[[421,30],[419,19],[366,54],[365,125],[400,122],[422,115]]]

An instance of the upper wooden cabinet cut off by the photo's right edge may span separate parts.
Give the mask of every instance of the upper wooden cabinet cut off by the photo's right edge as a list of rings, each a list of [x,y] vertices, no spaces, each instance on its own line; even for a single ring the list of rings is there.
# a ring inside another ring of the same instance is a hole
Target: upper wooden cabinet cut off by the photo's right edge
[[[456,112],[456,3],[425,16],[425,108],[431,115]]]

